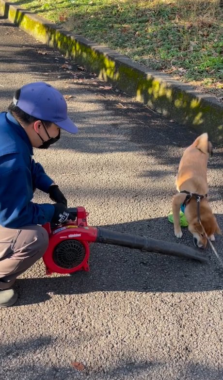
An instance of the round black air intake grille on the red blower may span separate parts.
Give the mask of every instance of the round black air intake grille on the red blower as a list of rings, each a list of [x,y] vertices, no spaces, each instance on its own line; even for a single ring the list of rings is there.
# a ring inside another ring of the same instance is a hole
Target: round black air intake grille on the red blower
[[[65,240],[54,249],[53,261],[65,269],[80,265],[85,258],[85,248],[78,240]]]

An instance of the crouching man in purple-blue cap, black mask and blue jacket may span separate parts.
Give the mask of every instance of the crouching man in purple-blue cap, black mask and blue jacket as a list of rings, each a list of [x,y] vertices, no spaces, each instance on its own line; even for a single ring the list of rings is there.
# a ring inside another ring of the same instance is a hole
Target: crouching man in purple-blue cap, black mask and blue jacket
[[[32,159],[32,148],[48,149],[61,130],[78,132],[63,95],[48,83],[24,85],[0,114],[0,307],[16,303],[16,278],[47,250],[42,225],[75,219],[58,185]],[[32,202],[36,188],[55,203]]]

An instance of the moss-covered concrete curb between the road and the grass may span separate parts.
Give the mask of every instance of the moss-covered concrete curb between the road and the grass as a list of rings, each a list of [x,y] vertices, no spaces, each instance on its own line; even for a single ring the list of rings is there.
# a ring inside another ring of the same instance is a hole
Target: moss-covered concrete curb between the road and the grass
[[[212,141],[223,144],[223,104],[217,99],[200,94],[166,74],[136,64],[114,50],[61,30],[45,18],[7,0],[0,0],[0,14],[157,112],[192,126],[199,133],[208,132]]]

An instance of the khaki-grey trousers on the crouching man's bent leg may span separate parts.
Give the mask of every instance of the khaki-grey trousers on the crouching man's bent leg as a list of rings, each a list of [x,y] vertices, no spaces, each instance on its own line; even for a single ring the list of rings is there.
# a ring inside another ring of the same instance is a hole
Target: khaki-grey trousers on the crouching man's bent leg
[[[24,226],[21,230],[0,226],[0,289],[11,287],[47,248],[48,233],[41,226]]]

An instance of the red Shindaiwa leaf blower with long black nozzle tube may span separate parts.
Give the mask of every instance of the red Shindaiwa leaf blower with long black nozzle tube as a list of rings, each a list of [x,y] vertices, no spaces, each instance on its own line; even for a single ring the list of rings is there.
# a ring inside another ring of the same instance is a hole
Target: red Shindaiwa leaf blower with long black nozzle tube
[[[198,260],[202,263],[207,262],[207,259],[199,252],[181,244],[110,231],[100,227],[90,227],[87,225],[88,213],[84,207],[68,210],[76,215],[75,221],[69,221],[53,228],[50,223],[43,226],[49,235],[48,249],[43,256],[48,275],[54,272],[73,273],[81,269],[89,271],[89,246],[91,243],[112,244],[140,249],[143,252],[159,252]]]

